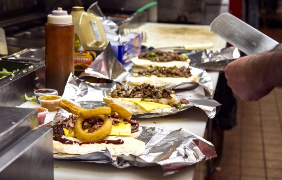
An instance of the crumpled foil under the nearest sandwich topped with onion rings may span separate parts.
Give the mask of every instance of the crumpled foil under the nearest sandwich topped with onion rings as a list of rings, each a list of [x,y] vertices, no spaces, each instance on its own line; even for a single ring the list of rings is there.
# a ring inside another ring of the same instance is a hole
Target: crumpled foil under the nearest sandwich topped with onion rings
[[[58,153],[54,154],[54,158],[111,164],[118,168],[160,165],[165,176],[203,159],[209,160],[217,157],[212,143],[184,129],[164,130],[155,127],[142,127],[142,132],[137,139],[145,142],[145,151],[141,156],[131,154],[111,156],[110,152],[105,149],[86,155]]]

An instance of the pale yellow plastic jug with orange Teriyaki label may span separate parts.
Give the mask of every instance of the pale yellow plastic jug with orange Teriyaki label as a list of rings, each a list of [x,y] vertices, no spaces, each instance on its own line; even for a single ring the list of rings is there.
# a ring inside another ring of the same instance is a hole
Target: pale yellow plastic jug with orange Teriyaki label
[[[86,13],[80,6],[72,7],[70,14],[75,26],[74,63],[78,75],[106,48],[107,38],[99,16]]]

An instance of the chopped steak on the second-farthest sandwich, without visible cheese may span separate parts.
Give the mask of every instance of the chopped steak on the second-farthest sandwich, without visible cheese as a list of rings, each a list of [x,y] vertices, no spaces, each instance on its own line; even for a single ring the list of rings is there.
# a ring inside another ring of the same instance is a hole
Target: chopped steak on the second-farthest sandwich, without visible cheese
[[[143,71],[138,72],[138,76],[157,76],[157,77],[191,77],[191,69],[190,68],[177,68],[174,67],[153,67],[149,66]]]

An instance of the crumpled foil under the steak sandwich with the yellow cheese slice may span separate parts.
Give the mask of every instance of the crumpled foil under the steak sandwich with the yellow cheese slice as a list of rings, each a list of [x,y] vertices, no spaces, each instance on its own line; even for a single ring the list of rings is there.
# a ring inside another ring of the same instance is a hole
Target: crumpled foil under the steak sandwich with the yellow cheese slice
[[[67,99],[68,101],[81,106],[86,109],[93,109],[101,106],[106,106],[103,102],[103,97],[106,97],[108,93],[110,93],[113,89],[115,89],[116,84],[118,82],[111,83],[91,83],[81,81],[78,77],[70,74],[70,77],[65,86],[65,92],[63,94],[63,99]],[[195,94],[193,96],[183,96],[185,94],[184,87],[175,88],[175,95],[178,100],[181,98],[187,99],[190,103],[184,106],[181,109],[172,108],[169,112],[162,113],[143,113],[143,114],[135,114],[132,117],[138,118],[151,118],[151,117],[159,117],[159,116],[167,116],[171,114],[178,113],[180,111],[184,111],[191,107],[201,108],[209,118],[214,118],[218,110],[220,109],[221,104],[217,101],[208,98],[206,96]],[[183,92],[184,91],[184,92]],[[68,115],[64,116],[66,113],[65,110],[59,109],[58,113],[55,116],[54,121],[58,121],[64,117],[68,117]]]

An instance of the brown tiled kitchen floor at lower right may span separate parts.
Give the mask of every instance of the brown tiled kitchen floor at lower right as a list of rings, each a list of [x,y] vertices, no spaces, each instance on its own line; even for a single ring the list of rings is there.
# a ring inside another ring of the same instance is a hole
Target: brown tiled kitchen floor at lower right
[[[259,101],[238,99],[237,121],[224,132],[222,160],[212,179],[282,180],[282,88]],[[198,163],[194,180],[204,180],[205,170],[205,162]]]

